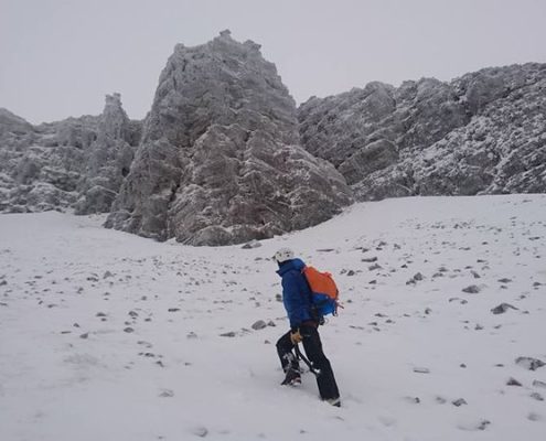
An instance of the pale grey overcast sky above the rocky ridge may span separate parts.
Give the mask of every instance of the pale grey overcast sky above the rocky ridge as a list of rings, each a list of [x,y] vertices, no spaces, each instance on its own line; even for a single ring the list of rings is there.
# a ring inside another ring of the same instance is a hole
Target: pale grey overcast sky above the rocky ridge
[[[261,44],[298,103],[371,80],[546,62],[546,0],[0,0],[0,107],[30,122],[150,109],[175,43]]]

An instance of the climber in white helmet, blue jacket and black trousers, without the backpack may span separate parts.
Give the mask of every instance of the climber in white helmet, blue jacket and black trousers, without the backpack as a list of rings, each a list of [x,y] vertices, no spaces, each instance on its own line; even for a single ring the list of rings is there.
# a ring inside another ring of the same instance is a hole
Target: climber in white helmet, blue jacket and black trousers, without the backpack
[[[274,258],[279,265],[277,273],[282,278],[282,303],[290,322],[290,331],[277,342],[277,353],[286,374],[282,385],[301,383],[299,363],[292,349],[298,343],[302,343],[313,369],[319,373],[317,384],[321,398],[332,406],[340,407],[340,392],[330,362],[322,351],[318,330],[319,320],[312,310],[312,292],[302,273],[306,263],[295,258],[293,251],[289,248],[279,249]]]

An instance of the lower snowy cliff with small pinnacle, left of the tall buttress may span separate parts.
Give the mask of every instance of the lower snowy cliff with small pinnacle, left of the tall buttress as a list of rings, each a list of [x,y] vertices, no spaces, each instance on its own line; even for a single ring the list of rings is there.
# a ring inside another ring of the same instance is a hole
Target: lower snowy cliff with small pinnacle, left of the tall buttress
[[[108,212],[132,160],[140,123],[118,94],[103,115],[31,126],[0,109],[0,212]]]

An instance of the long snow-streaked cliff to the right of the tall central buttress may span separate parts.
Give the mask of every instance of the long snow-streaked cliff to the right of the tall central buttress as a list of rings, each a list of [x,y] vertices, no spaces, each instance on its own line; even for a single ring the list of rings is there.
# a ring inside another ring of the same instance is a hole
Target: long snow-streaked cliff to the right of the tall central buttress
[[[372,83],[299,109],[306,148],[361,200],[546,192],[546,65]]]

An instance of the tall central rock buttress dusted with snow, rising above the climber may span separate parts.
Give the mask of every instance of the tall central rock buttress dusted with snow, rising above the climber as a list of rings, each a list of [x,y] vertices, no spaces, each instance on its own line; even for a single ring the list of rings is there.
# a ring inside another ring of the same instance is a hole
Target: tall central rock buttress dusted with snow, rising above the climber
[[[326,220],[343,176],[299,146],[296,105],[259,45],[228,31],[176,45],[107,226],[226,245]]]

